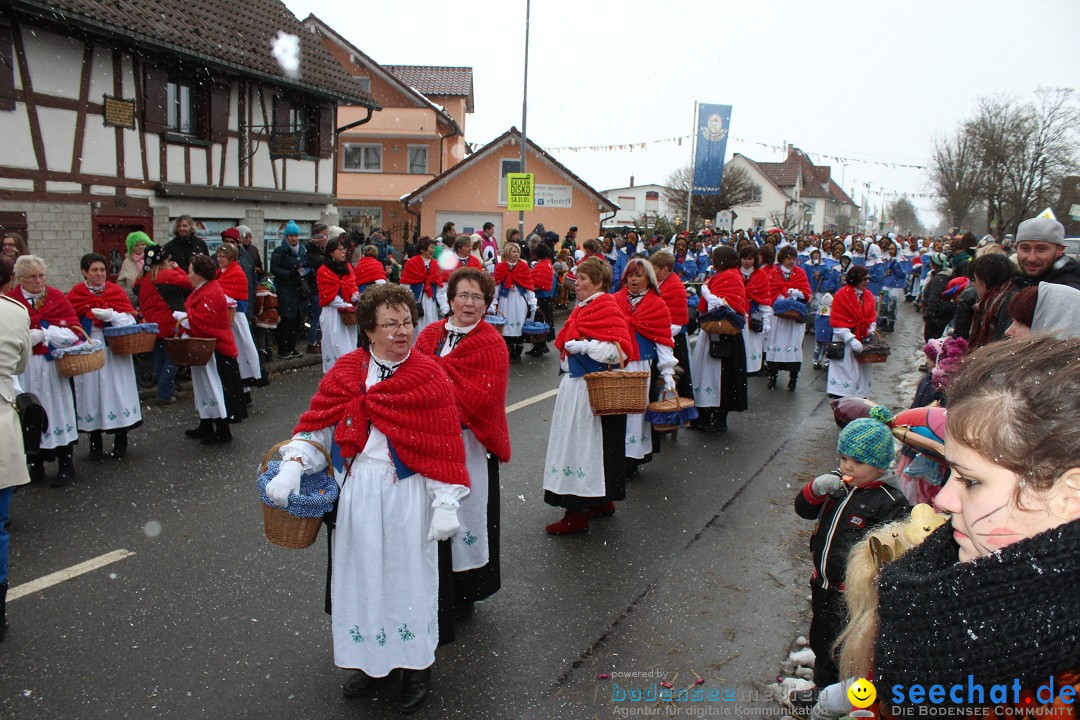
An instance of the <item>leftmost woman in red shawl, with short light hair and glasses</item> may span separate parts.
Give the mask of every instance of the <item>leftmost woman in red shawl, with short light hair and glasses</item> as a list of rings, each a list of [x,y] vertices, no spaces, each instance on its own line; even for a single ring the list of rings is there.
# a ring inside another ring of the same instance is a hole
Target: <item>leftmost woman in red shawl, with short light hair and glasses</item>
[[[15,260],[15,280],[18,283],[8,296],[26,305],[30,314],[30,345],[33,356],[18,383],[24,392],[33,393],[41,400],[49,416],[49,425],[41,433],[41,451],[30,458],[30,479],[45,477],[45,460],[56,460],[59,472],[53,487],[59,488],[75,479],[71,453],[79,440],[75,396],[71,383],[56,371],[53,351],[70,348],[82,341],[82,334],[75,310],[64,290],[45,285],[45,262],[36,255],[23,255]]]

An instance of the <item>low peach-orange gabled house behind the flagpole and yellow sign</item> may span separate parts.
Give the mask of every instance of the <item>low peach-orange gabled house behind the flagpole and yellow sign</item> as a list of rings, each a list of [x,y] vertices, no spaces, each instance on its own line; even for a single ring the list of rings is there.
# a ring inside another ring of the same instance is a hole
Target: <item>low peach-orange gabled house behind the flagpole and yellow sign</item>
[[[521,142],[521,133],[511,127],[403,198],[405,209],[419,218],[420,234],[434,237],[447,221],[459,233],[480,232],[490,221],[501,242],[507,228],[517,227],[517,212],[507,210],[507,173],[519,172]],[[525,214],[526,234],[543,223],[559,235],[577,226],[579,241],[597,237],[602,217],[618,209],[531,140],[527,140],[525,171],[536,176],[537,199],[536,209]]]

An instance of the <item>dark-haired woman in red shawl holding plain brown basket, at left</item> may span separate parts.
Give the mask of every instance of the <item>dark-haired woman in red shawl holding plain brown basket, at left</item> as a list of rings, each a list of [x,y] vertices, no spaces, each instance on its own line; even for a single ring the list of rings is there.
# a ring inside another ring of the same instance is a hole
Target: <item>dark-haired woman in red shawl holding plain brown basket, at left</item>
[[[199,426],[184,431],[203,445],[232,441],[229,423],[247,417],[244,385],[237,364],[237,341],[229,324],[229,302],[217,284],[215,262],[205,255],[192,255],[188,267],[191,295],[184,302],[187,312],[173,313],[192,338],[214,338],[214,356],[205,365],[191,366],[191,390],[199,410]]]

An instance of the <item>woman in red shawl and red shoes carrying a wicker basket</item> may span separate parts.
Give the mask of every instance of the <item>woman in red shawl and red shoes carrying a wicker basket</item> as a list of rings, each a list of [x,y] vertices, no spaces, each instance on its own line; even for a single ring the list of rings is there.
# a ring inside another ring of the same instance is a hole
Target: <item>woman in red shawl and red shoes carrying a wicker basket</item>
[[[578,304],[555,338],[566,372],[558,385],[544,458],[544,502],[563,507],[553,535],[584,532],[590,517],[615,513],[626,497],[626,416],[593,415],[584,376],[637,359],[622,307],[607,289],[611,266],[603,258],[577,267]]]

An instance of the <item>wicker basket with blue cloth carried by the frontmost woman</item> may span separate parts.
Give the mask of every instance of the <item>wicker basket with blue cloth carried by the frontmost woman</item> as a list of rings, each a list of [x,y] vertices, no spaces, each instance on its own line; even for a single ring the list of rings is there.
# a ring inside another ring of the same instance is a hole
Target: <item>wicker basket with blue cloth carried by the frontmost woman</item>
[[[259,498],[262,500],[262,526],[267,540],[279,547],[294,549],[308,547],[319,536],[323,516],[334,510],[338,499],[338,484],[326,448],[311,443],[326,458],[326,468],[300,477],[300,493],[288,497],[288,506],[282,508],[267,497],[267,483],[278,476],[281,460],[271,460],[278,450],[293,440],[278,443],[270,448],[259,465]],[[306,440],[309,441],[310,440]]]

